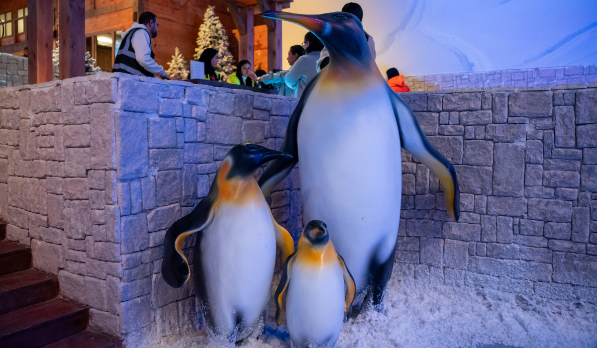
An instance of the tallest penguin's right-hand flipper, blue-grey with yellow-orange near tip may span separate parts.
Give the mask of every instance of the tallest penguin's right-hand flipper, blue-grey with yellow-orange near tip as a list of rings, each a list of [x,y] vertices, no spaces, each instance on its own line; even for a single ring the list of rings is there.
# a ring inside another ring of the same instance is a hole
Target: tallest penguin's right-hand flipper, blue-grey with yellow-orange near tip
[[[460,189],[458,189],[458,178],[454,166],[438,152],[418,127],[417,119],[413,110],[408,107],[398,95],[386,84],[387,94],[390,96],[398,131],[400,143],[405,150],[421,161],[433,174],[435,174],[444,185],[444,200],[448,214],[454,221],[460,218]]]

